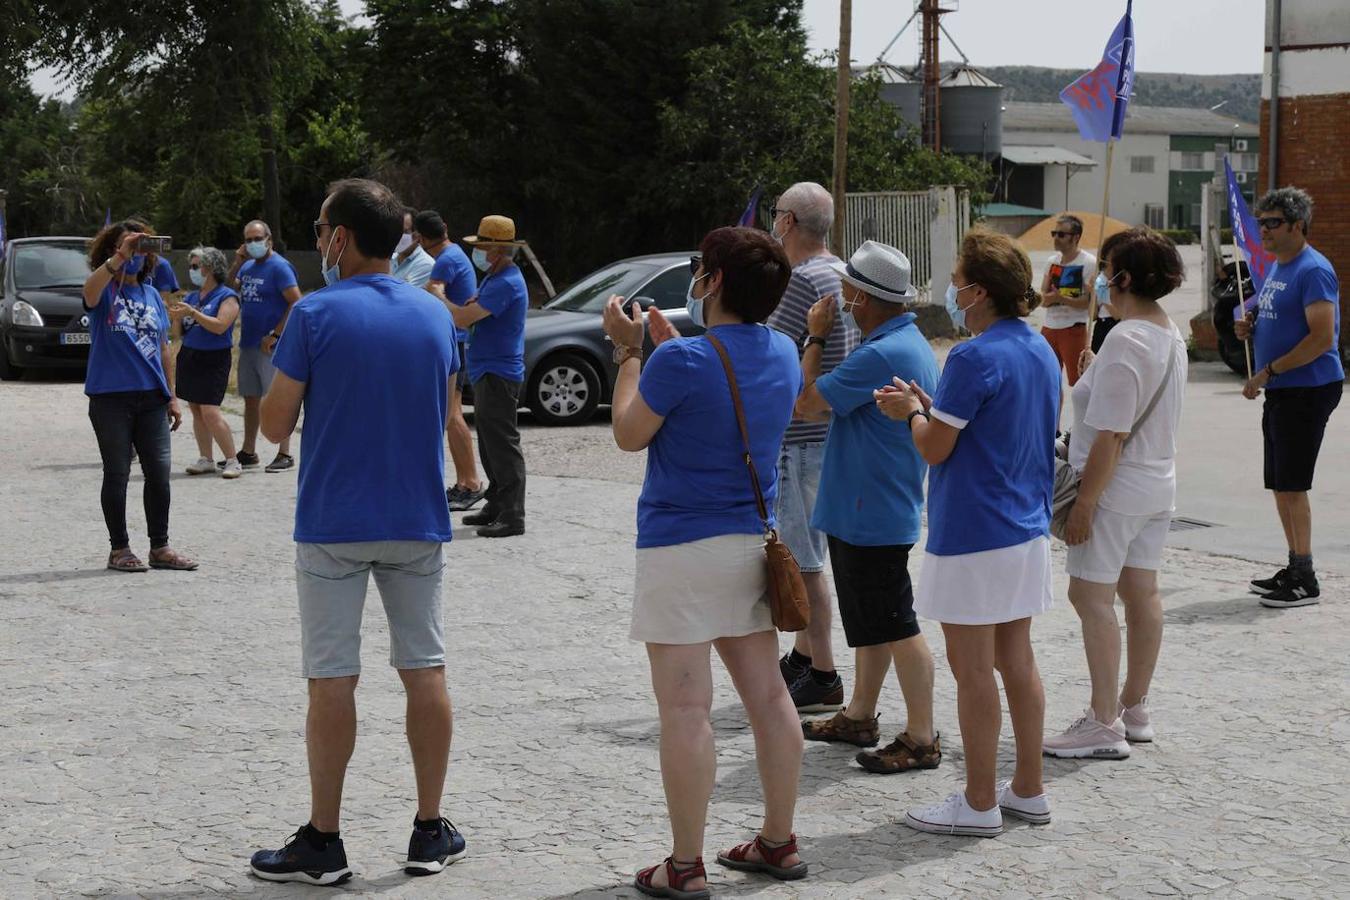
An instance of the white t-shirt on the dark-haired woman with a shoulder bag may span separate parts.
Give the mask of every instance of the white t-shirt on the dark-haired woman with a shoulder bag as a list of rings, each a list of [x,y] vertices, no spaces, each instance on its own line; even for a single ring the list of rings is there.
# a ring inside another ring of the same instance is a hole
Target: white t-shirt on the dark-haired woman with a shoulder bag
[[[1176,503],[1176,436],[1185,395],[1187,351],[1181,332],[1131,318],[1111,329],[1102,352],[1073,386],[1069,463],[1083,471],[1100,432],[1129,432],[1176,358],[1158,405],[1125,447],[1099,501],[1122,515],[1157,515]]]

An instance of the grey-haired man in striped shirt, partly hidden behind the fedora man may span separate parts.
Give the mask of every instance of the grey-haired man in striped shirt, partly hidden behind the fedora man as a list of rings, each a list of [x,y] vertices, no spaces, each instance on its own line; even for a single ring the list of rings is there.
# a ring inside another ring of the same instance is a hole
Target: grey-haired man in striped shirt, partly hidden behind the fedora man
[[[825,337],[813,339],[807,328],[807,313],[817,301],[840,297],[840,277],[833,269],[840,259],[825,246],[834,221],[834,200],[821,185],[803,181],[784,190],[770,212],[774,239],[783,244],[792,275],[765,324],[791,337],[799,351],[819,344],[821,374],[828,374],[853,352],[860,337],[844,316],[834,318]],[[834,669],[830,646],[833,617],[825,580],[828,541],[824,532],[811,528],[826,432],[828,414],[822,421],[794,420],[783,437],[778,461],[778,530],[802,567],[811,603],[810,626],[796,633],[792,649],[779,661],[799,712],[832,712],[844,706],[844,681]]]

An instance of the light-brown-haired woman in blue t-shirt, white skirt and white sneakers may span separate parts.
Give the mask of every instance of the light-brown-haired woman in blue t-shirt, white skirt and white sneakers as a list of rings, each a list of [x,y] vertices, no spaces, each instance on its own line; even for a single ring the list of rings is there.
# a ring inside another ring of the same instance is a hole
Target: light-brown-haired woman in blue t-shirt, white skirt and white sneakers
[[[994,837],[1003,815],[1050,820],[1041,784],[1045,690],[1031,617],[1050,607],[1050,493],[1060,366],[1025,321],[1040,302],[1013,239],[961,242],[946,305],[975,339],[952,348],[937,395],[896,383],[878,405],[905,418],[929,471],[929,532],[914,610],[942,623],[965,750],[965,791],[910,810],[919,831]],[[995,784],[998,681],[1017,737],[1017,770]]]

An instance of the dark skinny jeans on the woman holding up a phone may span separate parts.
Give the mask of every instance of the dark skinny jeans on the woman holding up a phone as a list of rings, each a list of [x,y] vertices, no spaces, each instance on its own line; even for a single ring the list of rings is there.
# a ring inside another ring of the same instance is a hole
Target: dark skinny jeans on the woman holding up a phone
[[[103,456],[103,521],[112,549],[131,545],[127,537],[127,480],[131,448],[140,455],[146,476],[143,502],[150,549],[169,546],[169,401],[159,391],[117,391],[89,398],[89,421]]]

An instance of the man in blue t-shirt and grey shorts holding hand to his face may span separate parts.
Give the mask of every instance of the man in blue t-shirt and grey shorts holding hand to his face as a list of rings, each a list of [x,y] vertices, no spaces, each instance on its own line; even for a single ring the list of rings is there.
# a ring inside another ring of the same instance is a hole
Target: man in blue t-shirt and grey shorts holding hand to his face
[[[286,328],[290,308],[300,300],[296,269],[273,250],[271,228],[261,219],[244,225],[244,243],[235,251],[230,286],[239,291],[239,368],[236,389],[244,398],[244,444],[236,457],[244,468],[258,468],[258,409],[271,386],[271,351]],[[277,447],[267,472],[294,468],[290,436]]]

